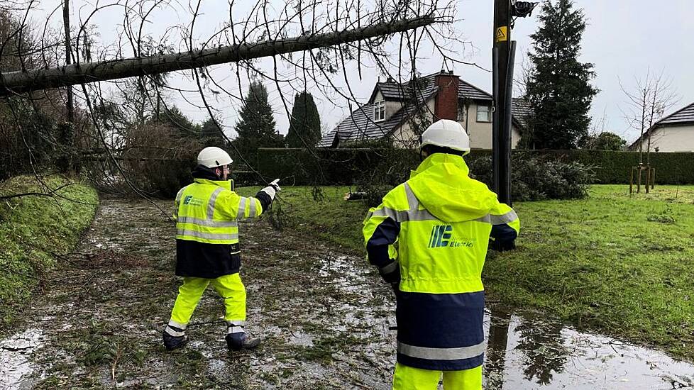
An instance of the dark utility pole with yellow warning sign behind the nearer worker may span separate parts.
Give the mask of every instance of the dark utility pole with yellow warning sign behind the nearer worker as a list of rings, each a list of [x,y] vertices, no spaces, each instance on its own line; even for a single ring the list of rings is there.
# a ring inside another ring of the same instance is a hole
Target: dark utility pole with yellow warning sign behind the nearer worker
[[[492,169],[493,185],[499,201],[512,206],[511,200],[511,104],[513,63],[516,42],[511,40],[512,17],[525,17],[537,3],[494,0],[494,46],[492,48]]]

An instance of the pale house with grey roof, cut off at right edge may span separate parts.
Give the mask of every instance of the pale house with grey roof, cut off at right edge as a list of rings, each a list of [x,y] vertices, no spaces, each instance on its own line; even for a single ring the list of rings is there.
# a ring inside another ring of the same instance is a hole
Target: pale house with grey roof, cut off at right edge
[[[694,103],[657,121],[639,137],[629,150],[647,150],[649,135],[651,151],[694,152]]]

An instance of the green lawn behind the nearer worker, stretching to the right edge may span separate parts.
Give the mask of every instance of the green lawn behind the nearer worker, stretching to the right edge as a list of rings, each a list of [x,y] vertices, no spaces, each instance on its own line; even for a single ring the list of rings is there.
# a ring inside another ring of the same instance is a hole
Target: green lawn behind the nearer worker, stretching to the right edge
[[[343,201],[346,187],[314,191],[282,191],[285,228],[363,252],[365,205]],[[578,327],[693,359],[694,186],[628,191],[600,185],[588,199],[515,204],[518,248],[490,252],[485,286],[511,305],[542,308]]]

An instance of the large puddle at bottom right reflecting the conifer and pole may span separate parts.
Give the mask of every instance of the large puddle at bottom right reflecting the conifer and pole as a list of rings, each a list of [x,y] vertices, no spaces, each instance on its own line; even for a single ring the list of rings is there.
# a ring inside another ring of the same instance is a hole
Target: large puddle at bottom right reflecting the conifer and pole
[[[694,389],[694,365],[536,313],[485,316],[485,389]]]

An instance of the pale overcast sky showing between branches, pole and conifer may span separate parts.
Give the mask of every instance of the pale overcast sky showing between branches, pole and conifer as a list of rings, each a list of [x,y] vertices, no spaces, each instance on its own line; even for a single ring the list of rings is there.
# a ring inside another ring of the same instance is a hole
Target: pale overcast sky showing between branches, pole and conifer
[[[96,0],[72,0],[72,11],[75,13],[73,20],[86,18],[94,9],[93,1]],[[275,4],[282,4],[281,0],[272,1]],[[133,3],[131,1],[131,3]],[[190,14],[187,13],[189,6],[187,0],[173,2],[173,9],[165,9],[153,14],[152,20],[145,26],[145,32],[152,34],[155,38],[167,34],[170,42],[180,40],[180,33],[177,30],[169,30],[175,25],[187,25],[190,21]],[[255,1],[248,1],[248,4]],[[619,87],[619,79],[627,89],[634,87],[634,77],[643,77],[646,70],[651,69],[655,72],[664,72],[673,82],[680,97],[678,104],[671,108],[669,112],[681,108],[686,104],[694,102],[694,23],[691,21],[694,15],[694,0],[575,0],[576,7],[583,8],[587,16],[588,27],[583,35],[583,51],[581,60],[595,64],[597,77],[593,84],[600,89],[600,93],[593,100],[591,114],[594,119],[605,116],[605,130],[622,135],[631,141],[637,137],[635,130],[629,129],[627,121],[624,120],[621,108],[626,107],[625,97]],[[40,8],[33,19],[41,21],[45,19],[45,14],[53,11],[53,8],[60,4],[58,0],[40,1]],[[101,1],[101,4],[106,4]],[[244,2],[236,7],[233,13],[234,18],[243,18],[248,12],[244,9]],[[491,30],[492,30],[492,0],[457,0],[458,19],[454,28],[463,35],[471,45],[466,45],[462,58],[469,62],[475,62],[480,67],[490,69],[491,67]],[[175,11],[175,9],[179,11]],[[229,10],[226,1],[206,0],[202,2],[202,16],[197,22],[195,38],[204,40],[210,33],[216,31],[225,21],[228,21]],[[529,50],[531,40],[529,35],[537,28],[536,13],[531,18],[519,19],[512,32],[512,39],[517,40],[516,57],[516,76],[519,76],[524,54]],[[60,12],[57,12],[53,19],[57,26],[60,26]],[[117,32],[123,23],[123,8],[109,7],[99,11],[90,20],[97,25],[99,40],[101,44],[112,44],[116,40]],[[55,23],[53,23],[55,25]],[[474,46],[474,48],[473,48]],[[449,45],[452,50],[463,50],[461,45]],[[183,47],[181,47],[183,48]],[[422,59],[417,67],[424,74],[437,72],[441,69],[442,61],[439,55],[434,52],[421,52]],[[260,62],[261,67],[270,69],[271,62]],[[378,77],[382,77],[374,68],[363,68],[362,79],[358,78],[356,63],[348,65],[348,79],[350,79],[351,91],[360,101],[368,99],[373,90],[374,83]],[[368,64],[367,64],[368,66]],[[228,65],[214,67],[212,74],[234,93],[238,93],[236,77],[231,74]],[[490,91],[491,74],[473,66],[456,65],[454,72],[459,74],[462,79],[477,85],[478,87]],[[343,74],[336,74],[332,81],[341,88],[346,87]],[[174,77],[172,84],[194,89],[190,82],[182,77]],[[300,86],[295,86],[300,87]],[[243,92],[246,85],[241,86]],[[270,100],[275,108],[275,118],[277,128],[280,133],[287,133],[288,121],[285,108],[279,98],[279,94],[272,85],[270,89]],[[309,91],[312,87],[309,86]],[[328,127],[333,127],[344,118],[348,112],[345,99],[338,96],[322,96],[315,91],[316,103],[321,113],[321,121]],[[293,92],[287,99],[293,101]],[[180,96],[172,96],[179,108],[193,118],[195,121],[204,121],[207,113],[204,110],[195,108],[187,103]],[[199,104],[200,99],[197,94],[188,94],[187,99],[194,104]],[[231,132],[233,124],[238,117],[238,102],[231,99],[212,99],[211,104],[221,110],[221,120]],[[290,107],[291,109],[291,107]],[[232,133],[233,134],[233,133]]]

